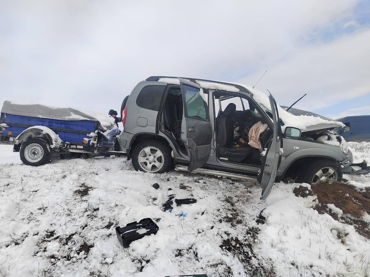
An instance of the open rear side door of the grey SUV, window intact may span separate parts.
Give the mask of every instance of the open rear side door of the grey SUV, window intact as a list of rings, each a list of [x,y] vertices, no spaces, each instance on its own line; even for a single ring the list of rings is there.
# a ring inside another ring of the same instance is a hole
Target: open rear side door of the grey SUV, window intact
[[[188,171],[193,171],[208,161],[211,153],[212,126],[201,87],[185,79],[179,78],[179,81],[184,105],[181,140],[190,159]]]

